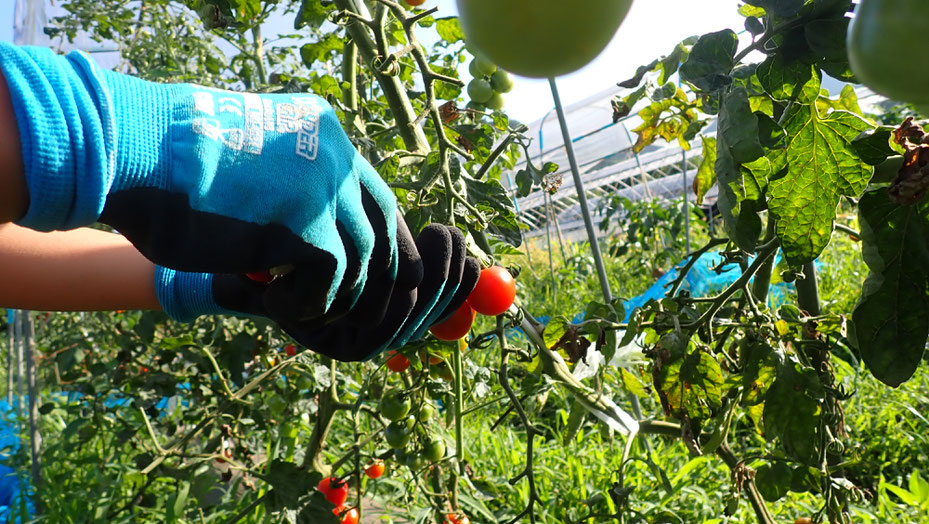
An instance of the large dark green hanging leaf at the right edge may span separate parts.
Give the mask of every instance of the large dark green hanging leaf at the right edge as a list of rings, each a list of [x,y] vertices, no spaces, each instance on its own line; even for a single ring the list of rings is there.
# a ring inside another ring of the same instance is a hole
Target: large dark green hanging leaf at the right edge
[[[929,336],[929,204],[901,206],[881,188],[861,197],[858,213],[870,273],[852,342],[871,373],[896,387],[916,371]]]

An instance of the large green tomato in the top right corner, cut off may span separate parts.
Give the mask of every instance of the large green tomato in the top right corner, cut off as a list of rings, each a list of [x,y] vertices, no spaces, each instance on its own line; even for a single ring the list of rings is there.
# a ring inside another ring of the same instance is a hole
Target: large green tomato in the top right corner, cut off
[[[862,0],[848,28],[858,80],[901,102],[929,103],[929,1]]]

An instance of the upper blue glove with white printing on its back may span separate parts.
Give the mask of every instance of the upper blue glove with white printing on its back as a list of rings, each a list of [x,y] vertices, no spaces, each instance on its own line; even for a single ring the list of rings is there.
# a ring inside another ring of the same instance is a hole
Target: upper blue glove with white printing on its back
[[[343,313],[358,300],[379,235],[378,264],[396,270],[394,196],[323,99],[154,84],[5,43],[0,69],[30,194],[19,224],[99,220],[189,272],[313,268],[283,293],[278,313],[294,321],[322,316],[340,290]]]

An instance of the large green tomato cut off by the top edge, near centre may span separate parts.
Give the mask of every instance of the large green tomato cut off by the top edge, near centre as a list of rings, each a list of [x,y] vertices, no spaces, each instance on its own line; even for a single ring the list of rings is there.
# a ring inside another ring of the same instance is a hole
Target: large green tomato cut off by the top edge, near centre
[[[632,0],[457,0],[468,45],[517,75],[549,78],[599,55]]]

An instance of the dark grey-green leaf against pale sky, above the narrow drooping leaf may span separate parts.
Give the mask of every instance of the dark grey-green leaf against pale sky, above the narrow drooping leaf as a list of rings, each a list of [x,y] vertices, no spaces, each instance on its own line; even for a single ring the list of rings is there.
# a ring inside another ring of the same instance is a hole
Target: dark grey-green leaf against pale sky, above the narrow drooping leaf
[[[701,91],[716,91],[732,83],[739,38],[731,29],[700,37],[680,68],[681,80]]]

